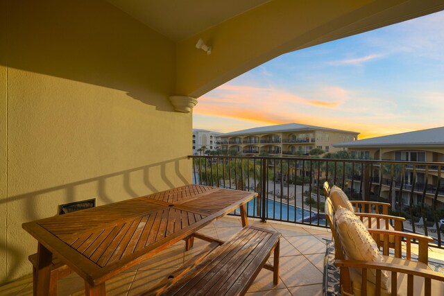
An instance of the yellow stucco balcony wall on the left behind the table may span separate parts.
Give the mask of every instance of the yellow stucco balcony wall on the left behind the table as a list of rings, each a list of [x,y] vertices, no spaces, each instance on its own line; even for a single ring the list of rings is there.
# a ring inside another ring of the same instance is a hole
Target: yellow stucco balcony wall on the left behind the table
[[[188,184],[191,113],[168,101],[174,44],[117,8],[0,3],[3,284],[31,273],[37,243],[22,223],[65,202],[100,205]]]

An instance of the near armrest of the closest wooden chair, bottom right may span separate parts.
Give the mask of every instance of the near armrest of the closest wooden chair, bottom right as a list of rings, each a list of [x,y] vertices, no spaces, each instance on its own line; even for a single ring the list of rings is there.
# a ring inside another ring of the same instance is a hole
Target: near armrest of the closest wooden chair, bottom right
[[[416,275],[417,277],[426,277],[428,279],[436,279],[436,281],[444,281],[444,273],[427,270],[423,268],[412,268],[406,265],[395,265],[386,262],[374,261],[355,261],[336,259],[338,267],[354,267],[354,268],[370,268],[377,270],[387,270],[391,272],[400,272],[407,275]]]

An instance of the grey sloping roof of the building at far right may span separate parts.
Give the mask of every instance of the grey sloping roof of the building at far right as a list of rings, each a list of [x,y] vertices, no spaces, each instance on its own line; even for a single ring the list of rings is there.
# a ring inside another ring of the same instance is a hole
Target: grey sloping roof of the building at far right
[[[398,146],[444,146],[444,127],[403,132],[348,143],[337,143],[334,147],[398,147]]]

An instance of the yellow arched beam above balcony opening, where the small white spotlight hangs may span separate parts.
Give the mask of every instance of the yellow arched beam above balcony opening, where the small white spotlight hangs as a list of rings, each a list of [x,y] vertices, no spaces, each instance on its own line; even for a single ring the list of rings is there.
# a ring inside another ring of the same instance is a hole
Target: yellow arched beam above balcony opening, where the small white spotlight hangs
[[[444,0],[108,0],[176,47],[175,95],[198,98],[284,53],[444,9]],[[201,38],[211,55],[196,49]]]

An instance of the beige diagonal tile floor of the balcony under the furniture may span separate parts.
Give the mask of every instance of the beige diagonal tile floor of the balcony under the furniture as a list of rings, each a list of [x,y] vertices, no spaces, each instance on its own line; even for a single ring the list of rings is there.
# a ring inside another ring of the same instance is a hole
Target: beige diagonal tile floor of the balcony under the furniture
[[[262,270],[247,295],[322,295],[323,259],[325,241],[331,238],[330,229],[298,227],[285,223],[260,223],[250,219],[251,225],[270,227],[282,234],[280,249],[280,283],[273,286],[273,273]],[[227,216],[208,225],[200,232],[227,240],[241,229],[240,219]],[[176,243],[169,249],[148,259],[144,263],[121,273],[106,283],[107,295],[138,295],[147,287],[173,272],[182,263],[194,256],[207,242],[195,239],[194,247],[185,252],[185,243]],[[436,250],[436,249],[434,249]],[[444,259],[443,250],[430,252],[431,258]],[[270,261],[270,263],[273,263]],[[31,270],[31,265],[30,265]],[[58,281],[58,295],[84,295],[83,280],[71,274]],[[0,287],[0,295],[32,295],[31,275]]]

